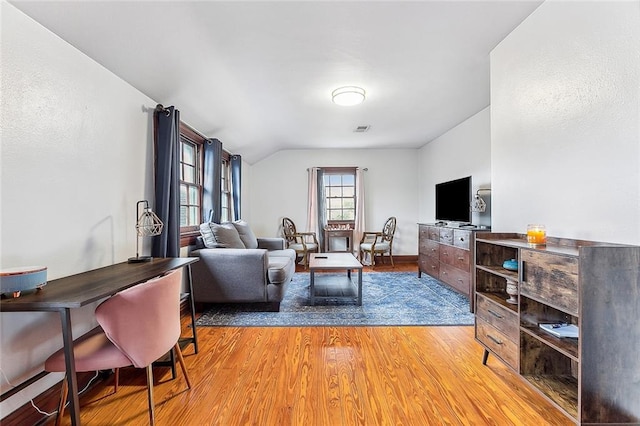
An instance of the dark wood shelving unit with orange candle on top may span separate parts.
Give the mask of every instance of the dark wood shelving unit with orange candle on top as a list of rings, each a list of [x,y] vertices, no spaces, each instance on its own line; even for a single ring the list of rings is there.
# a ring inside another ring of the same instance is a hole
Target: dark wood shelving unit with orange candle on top
[[[502,268],[517,259],[518,271]],[[518,283],[518,304],[505,301]],[[577,424],[640,423],[640,247],[478,233],[476,340]],[[545,323],[578,326],[558,338]]]

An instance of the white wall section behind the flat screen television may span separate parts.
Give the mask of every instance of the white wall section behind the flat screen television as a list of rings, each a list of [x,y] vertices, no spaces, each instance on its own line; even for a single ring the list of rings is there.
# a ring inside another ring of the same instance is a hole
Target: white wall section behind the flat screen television
[[[478,188],[491,188],[491,110],[486,107],[420,149],[419,222],[435,221],[435,185],[471,176],[475,194]],[[472,223],[491,225],[491,193],[480,193],[487,211],[473,213]]]

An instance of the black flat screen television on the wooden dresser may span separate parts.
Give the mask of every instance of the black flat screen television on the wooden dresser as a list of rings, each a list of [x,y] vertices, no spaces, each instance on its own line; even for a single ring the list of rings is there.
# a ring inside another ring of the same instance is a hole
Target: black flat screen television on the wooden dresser
[[[436,220],[471,222],[471,176],[436,184]]]

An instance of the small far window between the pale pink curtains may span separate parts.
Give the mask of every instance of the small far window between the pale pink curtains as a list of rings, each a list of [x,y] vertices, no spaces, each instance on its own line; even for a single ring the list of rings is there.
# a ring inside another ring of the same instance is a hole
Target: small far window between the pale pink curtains
[[[327,223],[354,223],[356,219],[356,169],[324,169]]]

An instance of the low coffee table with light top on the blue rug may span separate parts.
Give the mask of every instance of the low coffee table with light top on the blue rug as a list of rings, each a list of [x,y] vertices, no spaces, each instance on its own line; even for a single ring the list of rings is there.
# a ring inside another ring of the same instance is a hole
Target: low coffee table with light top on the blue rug
[[[318,270],[346,270],[345,276],[318,275]],[[351,279],[351,271],[358,271],[357,282]],[[362,264],[351,253],[312,253],[309,258],[311,287],[309,299],[315,305],[316,299],[354,299],[362,305]]]

